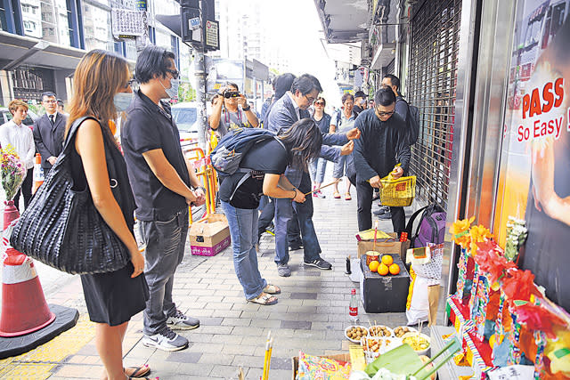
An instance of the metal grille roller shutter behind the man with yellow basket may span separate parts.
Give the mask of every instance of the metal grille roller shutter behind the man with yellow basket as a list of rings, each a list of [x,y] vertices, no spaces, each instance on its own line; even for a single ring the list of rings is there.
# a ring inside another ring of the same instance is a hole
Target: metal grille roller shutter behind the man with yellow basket
[[[421,201],[447,206],[452,162],[461,0],[427,0],[411,21],[408,99],[419,108],[411,174]]]

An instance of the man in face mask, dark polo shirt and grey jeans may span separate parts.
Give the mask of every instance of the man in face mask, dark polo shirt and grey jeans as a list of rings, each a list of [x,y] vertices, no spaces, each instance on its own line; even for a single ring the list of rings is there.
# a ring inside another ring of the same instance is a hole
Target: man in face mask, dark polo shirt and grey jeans
[[[172,288],[184,255],[188,206],[203,204],[204,190],[199,188],[191,163],[183,157],[170,106],[161,101],[178,92],[174,53],[147,46],[136,60],[135,73],[140,88],[126,110],[121,141],[136,199],[139,237],[146,244],[144,275],[150,296],[144,310],[142,344],[177,351],[188,346],[188,339],[171,327],[199,327],[198,319],[176,308]]]

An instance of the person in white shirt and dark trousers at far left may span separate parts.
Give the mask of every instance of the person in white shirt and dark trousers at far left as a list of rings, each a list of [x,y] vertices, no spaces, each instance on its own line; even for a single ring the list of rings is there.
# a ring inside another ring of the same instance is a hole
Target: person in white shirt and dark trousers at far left
[[[0,126],[0,145],[6,148],[8,144],[18,153],[18,157],[28,170],[20,190],[14,196],[14,206],[20,210],[20,192],[24,196],[24,207],[28,208],[29,200],[32,198],[32,181],[34,177],[34,156],[36,154],[36,144],[34,135],[28,125],[23,121],[28,116],[28,104],[23,101],[11,101],[8,109],[12,114],[12,120]]]

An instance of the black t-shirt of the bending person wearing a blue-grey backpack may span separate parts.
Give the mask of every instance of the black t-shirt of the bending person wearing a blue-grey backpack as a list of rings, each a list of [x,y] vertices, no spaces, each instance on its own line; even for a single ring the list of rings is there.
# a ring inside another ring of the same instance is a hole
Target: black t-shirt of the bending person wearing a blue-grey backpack
[[[241,159],[240,168],[254,170],[252,176],[233,190],[245,173],[235,173],[225,177],[220,184],[220,199],[237,208],[253,209],[259,206],[263,195],[264,174],[283,174],[289,165],[289,148],[284,150],[275,139],[256,143]],[[292,193],[291,193],[292,194]]]

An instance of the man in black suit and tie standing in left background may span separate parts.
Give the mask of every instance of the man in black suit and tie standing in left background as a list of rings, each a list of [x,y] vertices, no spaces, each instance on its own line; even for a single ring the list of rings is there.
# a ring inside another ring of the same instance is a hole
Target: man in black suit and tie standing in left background
[[[42,155],[44,174],[50,171],[63,149],[63,134],[67,117],[57,111],[55,93],[42,93],[45,115],[34,122],[34,141]]]

